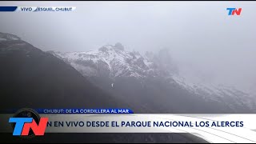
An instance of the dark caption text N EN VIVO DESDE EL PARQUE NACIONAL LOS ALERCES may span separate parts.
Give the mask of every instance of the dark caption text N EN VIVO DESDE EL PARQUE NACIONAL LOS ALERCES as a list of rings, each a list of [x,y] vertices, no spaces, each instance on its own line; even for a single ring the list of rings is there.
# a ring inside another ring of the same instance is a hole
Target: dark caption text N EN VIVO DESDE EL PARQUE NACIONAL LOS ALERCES
[[[182,121],[128,121],[128,122],[117,122],[117,121],[62,121],[62,122],[48,122],[47,126],[54,127],[243,127],[242,121],[222,121],[222,122],[182,122]]]

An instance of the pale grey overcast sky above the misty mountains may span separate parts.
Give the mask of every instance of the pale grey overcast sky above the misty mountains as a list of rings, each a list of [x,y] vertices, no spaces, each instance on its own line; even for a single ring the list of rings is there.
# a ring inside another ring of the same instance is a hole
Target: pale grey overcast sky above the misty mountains
[[[140,52],[167,47],[186,74],[206,75],[208,82],[243,90],[256,89],[256,2],[0,5],[77,7],[73,12],[0,13],[1,32],[16,34],[41,50],[87,51],[115,42]],[[227,7],[241,7],[241,16],[229,16]]]

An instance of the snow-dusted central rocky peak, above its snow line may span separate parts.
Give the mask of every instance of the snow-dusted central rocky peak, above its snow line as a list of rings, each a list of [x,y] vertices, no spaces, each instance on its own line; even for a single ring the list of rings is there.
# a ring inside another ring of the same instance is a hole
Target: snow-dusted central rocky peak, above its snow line
[[[52,52],[85,76],[144,78],[156,75],[153,63],[138,52],[125,51],[120,43],[88,52]]]

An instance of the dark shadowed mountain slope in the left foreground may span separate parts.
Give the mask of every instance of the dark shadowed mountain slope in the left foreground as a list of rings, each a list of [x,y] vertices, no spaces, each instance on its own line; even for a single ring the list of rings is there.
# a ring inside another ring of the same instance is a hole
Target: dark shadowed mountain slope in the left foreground
[[[12,34],[0,38],[1,108],[124,105],[52,54]]]

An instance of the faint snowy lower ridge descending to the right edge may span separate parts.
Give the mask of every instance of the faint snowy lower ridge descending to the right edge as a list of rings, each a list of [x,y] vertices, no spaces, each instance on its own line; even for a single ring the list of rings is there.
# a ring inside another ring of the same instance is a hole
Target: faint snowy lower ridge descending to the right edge
[[[190,93],[196,94],[206,101],[226,102],[226,105],[233,109],[234,105],[238,105],[256,110],[254,94],[243,92],[242,90],[236,89],[234,86],[189,82],[186,78],[179,75],[174,75],[172,78],[174,82],[177,82],[184,90],[189,90]]]

